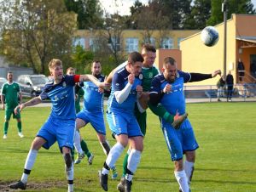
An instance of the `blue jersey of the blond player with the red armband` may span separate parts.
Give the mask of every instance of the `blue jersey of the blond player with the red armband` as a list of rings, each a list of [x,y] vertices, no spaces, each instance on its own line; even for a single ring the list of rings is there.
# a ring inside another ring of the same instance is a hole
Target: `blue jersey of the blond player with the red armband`
[[[52,103],[50,117],[69,120],[76,118],[74,103],[74,76],[63,76],[58,84],[47,82],[40,98],[50,99]]]

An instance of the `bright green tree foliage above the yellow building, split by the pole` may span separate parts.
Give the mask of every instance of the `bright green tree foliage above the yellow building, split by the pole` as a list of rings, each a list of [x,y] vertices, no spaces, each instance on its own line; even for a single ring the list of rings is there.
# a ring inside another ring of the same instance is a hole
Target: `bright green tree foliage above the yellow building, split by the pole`
[[[231,14],[255,14],[251,0],[227,0],[227,17],[230,19]],[[223,22],[224,14],[222,13],[222,0],[212,1],[211,17],[207,20],[207,25],[217,25]]]

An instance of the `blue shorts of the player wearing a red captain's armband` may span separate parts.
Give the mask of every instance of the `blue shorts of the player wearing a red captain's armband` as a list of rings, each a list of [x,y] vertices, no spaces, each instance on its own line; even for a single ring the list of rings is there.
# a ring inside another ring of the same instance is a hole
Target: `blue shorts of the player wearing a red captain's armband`
[[[75,133],[75,121],[74,120],[60,120],[49,117],[40,128],[37,137],[44,138],[46,143],[43,147],[49,150],[50,146],[58,142],[60,149],[62,147],[68,147],[73,149],[73,138]]]

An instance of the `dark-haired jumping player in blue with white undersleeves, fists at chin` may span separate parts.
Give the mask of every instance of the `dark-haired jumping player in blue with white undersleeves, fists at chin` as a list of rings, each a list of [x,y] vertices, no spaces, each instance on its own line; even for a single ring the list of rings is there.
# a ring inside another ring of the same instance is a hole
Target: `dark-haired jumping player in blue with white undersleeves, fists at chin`
[[[125,150],[128,142],[132,150],[125,175],[125,191],[131,191],[131,179],[143,152],[143,133],[134,115],[135,103],[143,93],[142,65],[143,56],[133,52],[128,56],[127,65],[113,75],[107,120],[117,142],[111,148],[102,170],[99,171],[100,184],[106,191],[108,190],[108,172]]]

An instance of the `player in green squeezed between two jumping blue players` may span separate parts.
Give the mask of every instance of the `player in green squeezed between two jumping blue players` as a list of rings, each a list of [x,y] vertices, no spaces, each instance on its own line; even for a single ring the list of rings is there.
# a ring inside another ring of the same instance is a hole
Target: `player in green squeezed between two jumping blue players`
[[[144,44],[142,48],[142,56],[143,56],[143,67],[142,67],[142,73],[143,73],[143,94],[141,98],[139,99],[139,102],[135,105],[135,116],[137,118],[137,122],[139,126],[141,127],[141,131],[143,133],[143,137],[146,135],[146,128],[147,128],[147,112],[146,109],[149,108],[154,112],[155,115],[161,116],[166,121],[170,123],[174,123],[173,125],[175,127],[178,127],[178,125],[186,118],[187,114],[184,114],[183,116],[176,116],[175,121],[174,116],[169,114],[168,111],[166,111],[161,104],[154,106],[148,102],[149,96],[148,96],[148,91],[151,86],[151,82],[153,80],[153,77],[159,74],[158,69],[154,66],[154,60],[156,58],[156,50],[153,45],[150,44]],[[125,62],[122,65],[119,65],[114,71],[124,67],[127,65],[127,62]],[[108,78],[107,82],[110,83],[112,81],[112,76],[114,71],[112,71]],[[119,191],[124,191],[124,181],[125,181],[125,174],[126,174],[126,168],[127,168],[127,160],[129,157],[129,154],[131,152],[131,148],[127,151],[125,155],[125,159],[123,161],[123,177],[120,180],[120,183],[117,186],[117,189]],[[153,152],[154,153],[154,152]]]

